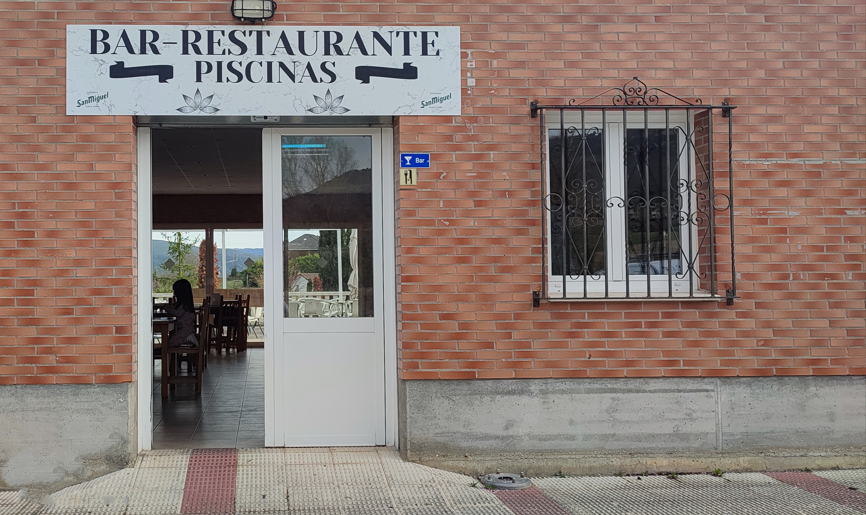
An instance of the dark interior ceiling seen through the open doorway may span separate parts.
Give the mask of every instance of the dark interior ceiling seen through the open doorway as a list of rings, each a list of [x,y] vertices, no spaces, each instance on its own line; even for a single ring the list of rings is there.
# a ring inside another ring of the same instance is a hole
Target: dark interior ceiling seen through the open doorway
[[[262,194],[262,129],[153,129],[153,195]]]

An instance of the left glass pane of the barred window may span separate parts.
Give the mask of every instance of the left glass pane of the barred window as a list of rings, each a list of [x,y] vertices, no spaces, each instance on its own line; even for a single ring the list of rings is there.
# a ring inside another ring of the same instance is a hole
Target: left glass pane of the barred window
[[[604,275],[604,152],[598,127],[551,129],[550,197],[553,275]],[[565,169],[563,169],[565,146]]]

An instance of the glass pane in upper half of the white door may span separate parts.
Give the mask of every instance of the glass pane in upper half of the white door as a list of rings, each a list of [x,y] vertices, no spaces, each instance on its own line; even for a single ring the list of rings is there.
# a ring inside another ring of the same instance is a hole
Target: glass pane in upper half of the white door
[[[372,317],[372,137],[281,139],[284,316]]]

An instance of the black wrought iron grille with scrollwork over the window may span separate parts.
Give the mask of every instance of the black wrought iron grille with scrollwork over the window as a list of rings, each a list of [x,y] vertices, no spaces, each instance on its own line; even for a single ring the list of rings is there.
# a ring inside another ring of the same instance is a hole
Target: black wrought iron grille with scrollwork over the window
[[[610,105],[590,104],[608,97]],[[637,78],[579,104],[533,102],[544,208],[544,276],[535,304],[732,304],[734,108],[683,100]]]

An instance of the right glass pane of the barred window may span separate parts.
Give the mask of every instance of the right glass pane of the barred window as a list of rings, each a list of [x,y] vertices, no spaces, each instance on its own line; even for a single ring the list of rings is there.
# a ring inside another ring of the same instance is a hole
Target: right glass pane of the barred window
[[[680,274],[683,196],[679,129],[629,129],[626,177],[629,274]]]

